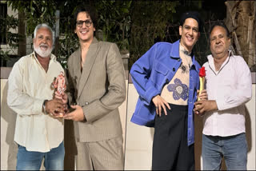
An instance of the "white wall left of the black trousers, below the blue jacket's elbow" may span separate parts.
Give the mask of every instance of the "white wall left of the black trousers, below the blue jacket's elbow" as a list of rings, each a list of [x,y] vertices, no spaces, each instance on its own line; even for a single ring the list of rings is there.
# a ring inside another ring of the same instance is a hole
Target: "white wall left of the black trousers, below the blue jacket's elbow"
[[[129,84],[127,122],[126,122],[126,170],[150,170],[151,151],[154,129],[146,126],[136,125],[130,122],[132,113],[138,100],[138,93],[133,84]]]

